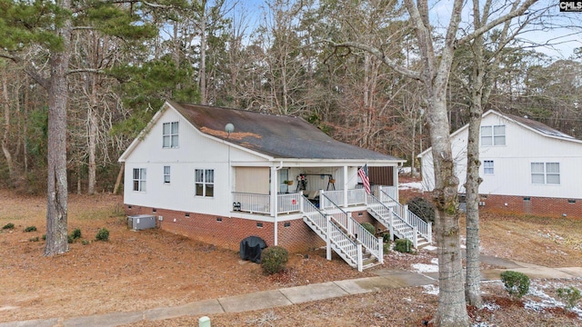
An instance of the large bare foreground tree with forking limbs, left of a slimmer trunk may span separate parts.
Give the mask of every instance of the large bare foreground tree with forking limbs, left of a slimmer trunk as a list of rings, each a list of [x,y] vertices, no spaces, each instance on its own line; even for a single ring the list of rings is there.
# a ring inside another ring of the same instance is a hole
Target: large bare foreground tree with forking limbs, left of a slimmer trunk
[[[455,49],[458,45],[483,35],[488,30],[503,24],[518,15],[523,15],[529,6],[537,0],[526,0],[507,14],[476,28],[473,33],[457,37],[461,23],[464,2],[456,0],[452,6],[450,20],[446,28],[442,45],[437,45],[433,27],[429,21],[428,2],[426,0],[405,0],[404,5],[409,15],[409,22],[416,35],[419,49],[420,69],[414,71],[396,64],[378,48],[356,42],[344,42],[343,46],[360,48],[376,55],[383,63],[397,72],[421,81],[426,90],[426,121],[430,127],[430,140],[435,165],[434,202],[437,206],[436,233],[439,265],[439,301],[436,325],[468,326],[467,307],[463,266],[461,262],[459,240],[459,216],[457,203],[458,179],[454,173],[454,158],[449,139],[449,122],[447,116],[447,84],[451,72]],[[440,49],[439,52],[438,49]]]

